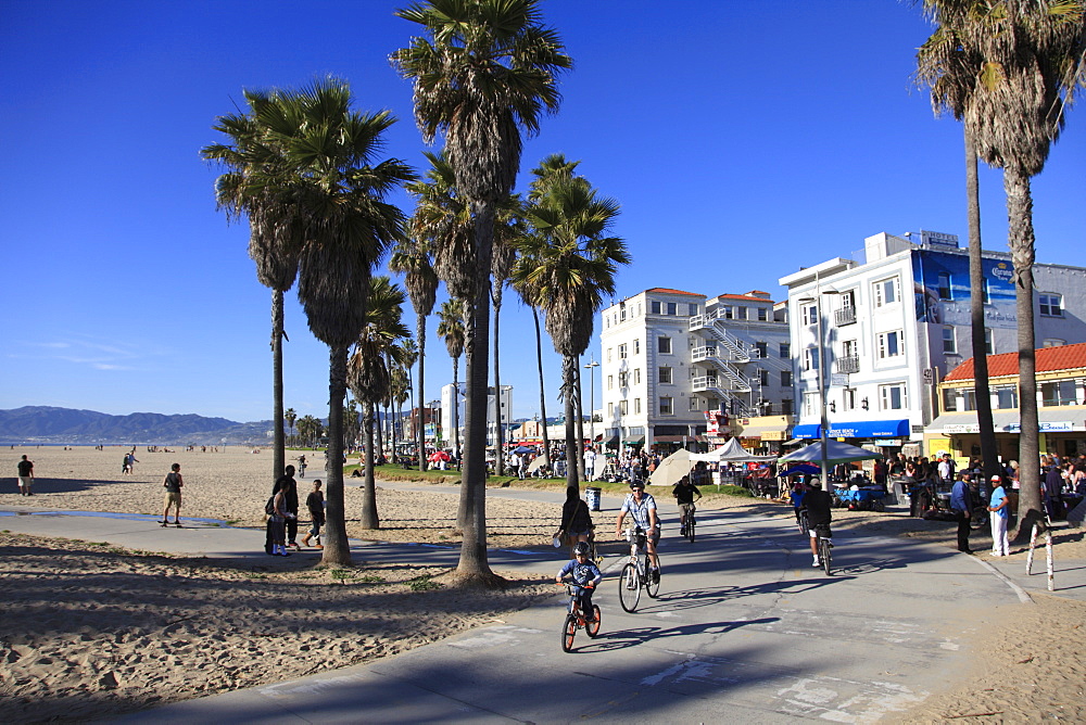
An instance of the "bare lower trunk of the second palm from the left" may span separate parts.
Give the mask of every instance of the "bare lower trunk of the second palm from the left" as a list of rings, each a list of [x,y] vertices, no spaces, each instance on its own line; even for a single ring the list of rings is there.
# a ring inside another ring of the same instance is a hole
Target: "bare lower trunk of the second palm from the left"
[[[327,529],[320,562],[351,564],[351,548],[346,540],[346,512],[343,506],[343,398],[346,397],[348,345],[329,349],[328,362],[328,470]]]

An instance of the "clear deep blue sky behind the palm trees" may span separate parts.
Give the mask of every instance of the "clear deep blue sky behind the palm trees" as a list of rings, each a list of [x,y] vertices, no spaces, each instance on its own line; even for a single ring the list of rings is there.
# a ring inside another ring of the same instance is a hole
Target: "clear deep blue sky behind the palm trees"
[[[358,109],[399,116],[387,155],[422,168],[411,85],[388,63],[415,31],[392,15],[403,4],[0,3],[0,409],[270,417],[270,293],[247,255],[248,227],[216,212],[216,170],[199,150],[222,140],[212,125],[242,88],[332,74],[351,81]],[[559,114],[526,144],[521,178],[561,152],[621,203],[616,233],[633,264],[619,297],[669,287],[780,300],[780,277],[880,231],[965,239],[961,127],[912,87],[931,28],[911,3],[543,10],[576,67]],[[1076,110],[1034,180],[1038,262],[1086,264],[1082,126]],[[981,183],[985,246],[1006,250],[1001,175],[983,169]],[[395,201],[411,212],[406,195]],[[286,403],[324,417],[327,347],[288,296]],[[531,417],[531,315],[509,295],[502,321],[502,382],[515,387],[514,414]],[[422,400],[452,378],[435,326]],[[545,348],[554,415],[560,368]],[[598,359],[598,338],[591,349]]]

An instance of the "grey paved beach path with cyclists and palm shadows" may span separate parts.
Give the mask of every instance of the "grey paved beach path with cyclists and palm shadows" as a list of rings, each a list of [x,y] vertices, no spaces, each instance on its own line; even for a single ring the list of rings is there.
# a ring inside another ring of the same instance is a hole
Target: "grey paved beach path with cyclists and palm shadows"
[[[383,484],[382,484],[383,485]],[[431,488],[432,489],[432,488]],[[558,492],[493,491],[553,497]],[[662,499],[662,496],[660,497]],[[544,498],[544,500],[551,500]],[[618,499],[597,522],[610,525]],[[673,520],[668,504],[660,501]],[[670,506],[673,508],[673,505]],[[261,531],[210,521],[161,529],[154,517],[8,507],[0,529],[102,540],[143,550],[257,559]],[[978,607],[1044,590],[1034,571],[902,538],[836,537],[833,576],[811,568],[793,525],[743,511],[704,511],[698,539],[666,534],[658,599],[618,603],[616,570],[595,597],[598,638],[564,653],[564,598],[440,643],[333,672],[188,700],[121,722],[872,722],[944,687],[969,666]],[[352,542],[358,559],[454,565],[454,548]],[[303,554],[295,556],[318,555]],[[496,569],[552,573],[552,550],[493,550]],[[1086,562],[1058,562],[1061,596],[1086,598]]]

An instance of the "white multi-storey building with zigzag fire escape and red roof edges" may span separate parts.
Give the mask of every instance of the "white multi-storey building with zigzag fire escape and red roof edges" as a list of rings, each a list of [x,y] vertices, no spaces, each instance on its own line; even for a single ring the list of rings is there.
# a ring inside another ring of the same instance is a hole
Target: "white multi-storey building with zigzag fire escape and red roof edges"
[[[603,310],[604,441],[681,445],[705,435],[707,414],[790,410],[785,315],[765,292],[707,298],[664,288]]]

